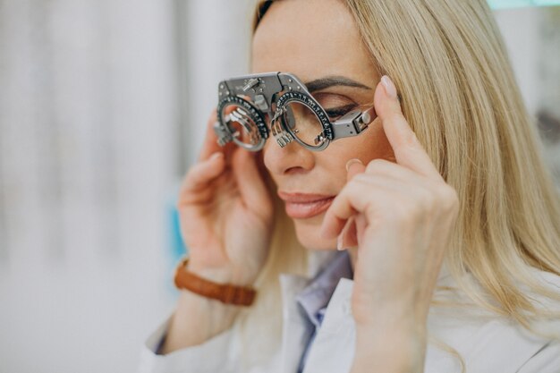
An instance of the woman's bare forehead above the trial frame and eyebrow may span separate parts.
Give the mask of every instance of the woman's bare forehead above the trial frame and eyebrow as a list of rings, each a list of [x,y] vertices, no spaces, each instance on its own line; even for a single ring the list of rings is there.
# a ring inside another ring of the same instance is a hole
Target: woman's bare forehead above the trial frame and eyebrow
[[[373,79],[369,54],[342,0],[278,0],[252,40],[252,72],[293,72],[302,81]]]

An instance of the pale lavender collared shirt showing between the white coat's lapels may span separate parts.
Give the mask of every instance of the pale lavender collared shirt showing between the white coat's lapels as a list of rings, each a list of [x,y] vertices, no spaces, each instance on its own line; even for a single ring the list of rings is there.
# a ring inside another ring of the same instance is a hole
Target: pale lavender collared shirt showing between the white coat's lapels
[[[333,259],[327,267],[311,280],[310,284],[297,295],[296,301],[301,307],[301,310],[304,312],[304,315],[307,316],[310,323],[315,326],[315,330],[310,336],[305,350],[301,354],[298,373],[303,371],[308,352],[310,351],[310,345],[313,343],[318,329],[323,322],[328,301],[330,301],[335,292],[336,285],[341,278],[352,279],[352,276],[350,256],[347,251],[341,251],[336,255],[335,259]]]

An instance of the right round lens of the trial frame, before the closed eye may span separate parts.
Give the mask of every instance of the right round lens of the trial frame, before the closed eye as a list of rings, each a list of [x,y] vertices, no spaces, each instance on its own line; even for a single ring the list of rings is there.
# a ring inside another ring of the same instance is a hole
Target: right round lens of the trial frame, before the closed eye
[[[311,147],[318,147],[325,141],[317,114],[300,102],[292,101],[284,107],[284,123],[298,140]]]

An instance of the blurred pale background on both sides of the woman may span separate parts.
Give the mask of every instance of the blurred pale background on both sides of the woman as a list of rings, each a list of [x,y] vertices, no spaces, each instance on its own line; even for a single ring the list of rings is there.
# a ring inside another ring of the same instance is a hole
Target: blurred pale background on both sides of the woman
[[[560,7],[508,1],[560,180]],[[248,72],[249,4],[0,0],[0,373],[134,371],[174,308],[177,184],[217,82]]]

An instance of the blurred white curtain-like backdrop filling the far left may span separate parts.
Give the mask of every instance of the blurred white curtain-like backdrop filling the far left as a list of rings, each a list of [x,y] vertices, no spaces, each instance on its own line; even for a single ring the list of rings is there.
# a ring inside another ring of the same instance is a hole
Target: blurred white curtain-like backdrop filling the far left
[[[0,371],[132,371],[171,305],[174,3],[0,0]]]

